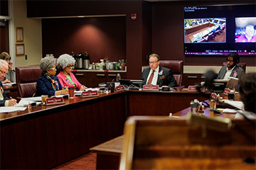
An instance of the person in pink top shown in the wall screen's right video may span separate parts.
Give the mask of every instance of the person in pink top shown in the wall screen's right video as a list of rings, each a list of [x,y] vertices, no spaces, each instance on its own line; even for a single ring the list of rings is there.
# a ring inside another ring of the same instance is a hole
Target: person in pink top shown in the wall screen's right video
[[[245,35],[240,35],[235,42],[256,42],[254,26],[247,25],[245,28]]]

